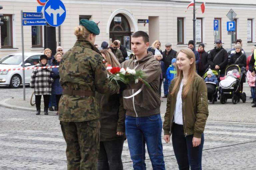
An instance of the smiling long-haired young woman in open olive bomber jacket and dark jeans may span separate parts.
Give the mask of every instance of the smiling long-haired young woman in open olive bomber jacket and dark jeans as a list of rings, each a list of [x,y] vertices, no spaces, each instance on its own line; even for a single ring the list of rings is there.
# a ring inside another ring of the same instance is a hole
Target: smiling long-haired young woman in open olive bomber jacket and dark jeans
[[[189,48],[177,55],[177,77],[172,80],[164,116],[164,140],[170,141],[179,169],[202,169],[204,127],[208,117],[206,84],[196,74],[195,55]]]

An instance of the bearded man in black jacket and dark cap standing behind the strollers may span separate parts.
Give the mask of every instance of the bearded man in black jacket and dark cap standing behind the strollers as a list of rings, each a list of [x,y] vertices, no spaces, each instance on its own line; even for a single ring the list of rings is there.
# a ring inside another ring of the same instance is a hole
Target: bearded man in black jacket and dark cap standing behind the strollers
[[[222,47],[221,40],[216,40],[215,47],[208,55],[208,62],[211,68],[220,70],[220,76],[225,76],[225,69],[228,64],[228,52]]]

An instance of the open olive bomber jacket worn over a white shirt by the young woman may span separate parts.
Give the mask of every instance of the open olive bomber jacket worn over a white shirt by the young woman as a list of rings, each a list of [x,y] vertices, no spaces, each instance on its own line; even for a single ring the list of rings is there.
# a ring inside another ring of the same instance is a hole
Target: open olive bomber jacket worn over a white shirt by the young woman
[[[172,91],[176,80],[176,78],[172,80],[169,92]],[[167,98],[167,108],[163,123],[164,134],[172,133],[174,110],[176,106],[176,97],[178,91],[179,88],[177,88],[175,91],[174,96],[169,94]],[[196,74],[194,81],[190,85],[190,89],[186,98],[182,98],[182,119],[184,135],[186,136],[194,134],[194,137],[201,138],[201,134],[204,132],[207,117],[207,86],[203,78]]]

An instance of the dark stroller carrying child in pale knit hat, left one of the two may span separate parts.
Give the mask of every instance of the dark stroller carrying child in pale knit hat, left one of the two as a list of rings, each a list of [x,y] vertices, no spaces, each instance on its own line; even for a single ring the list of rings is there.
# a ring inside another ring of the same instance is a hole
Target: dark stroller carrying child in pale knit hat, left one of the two
[[[205,79],[207,77],[207,71],[209,70],[209,68],[206,69],[206,71],[204,72],[203,75],[203,79]],[[216,78],[219,80],[219,71],[211,69],[212,73],[216,76]],[[212,104],[215,103],[215,100],[217,100],[217,96],[218,96],[218,86],[219,86],[219,81],[218,83],[214,83],[214,82],[205,82],[206,86],[207,86],[207,98],[210,102],[212,102]]]

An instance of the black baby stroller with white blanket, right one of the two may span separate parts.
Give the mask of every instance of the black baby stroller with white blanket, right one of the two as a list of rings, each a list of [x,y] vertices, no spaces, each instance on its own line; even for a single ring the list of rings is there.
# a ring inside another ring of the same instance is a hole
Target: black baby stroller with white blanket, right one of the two
[[[240,77],[239,77],[240,75]],[[242,99],[246,101],[246,94],[242,92],[241,84],[246,76],[246,69],[238,67],[237,65],[230,65],[225,70],[225,79],[219,82],[219,94],[221,104],[225,104],[227,99],[232,99],[233,104]]]

